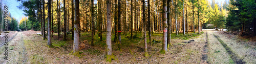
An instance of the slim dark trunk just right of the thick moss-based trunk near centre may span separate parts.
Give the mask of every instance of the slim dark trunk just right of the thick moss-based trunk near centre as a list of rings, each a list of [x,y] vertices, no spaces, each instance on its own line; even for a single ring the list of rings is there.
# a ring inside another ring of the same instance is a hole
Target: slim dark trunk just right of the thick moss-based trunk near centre
[[[121,0],[118,0],[118,49],[121,51]]]

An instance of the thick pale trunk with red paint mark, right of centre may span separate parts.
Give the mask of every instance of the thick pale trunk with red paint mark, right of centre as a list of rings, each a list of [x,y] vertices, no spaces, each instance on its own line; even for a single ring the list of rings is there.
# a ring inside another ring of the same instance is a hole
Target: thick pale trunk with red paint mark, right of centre
[[[163,21],[163,26],[162,26],[162,30],[163,30],[163,45],[162,45],[162,53],[165,53],[165,51],[167,51],[167,27],[168,27],[168,25],[167,25],[167,7],[166,7],[166,5],[167,5],[167,2],[166,2],[166,0],[163,0],[163,19],[162,19],[162,21]]]

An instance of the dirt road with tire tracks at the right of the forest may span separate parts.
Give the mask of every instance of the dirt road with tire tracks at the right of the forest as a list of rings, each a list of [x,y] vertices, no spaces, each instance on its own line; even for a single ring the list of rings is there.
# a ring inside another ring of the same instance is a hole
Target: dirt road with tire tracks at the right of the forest
[[[256,63],[256,50],[238,42],[235,35],[215,30],[204,32],[208,33],[209,63]]]

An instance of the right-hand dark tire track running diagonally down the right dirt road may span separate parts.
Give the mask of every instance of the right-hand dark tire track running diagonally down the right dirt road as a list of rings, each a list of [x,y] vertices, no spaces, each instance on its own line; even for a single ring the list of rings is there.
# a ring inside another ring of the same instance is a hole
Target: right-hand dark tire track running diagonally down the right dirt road
[[[236,62],[237,64],[246,63],[245,61],[243,61],[243,59],[240,59],[236,53],[232,52],[232,50],[217,35],[214,34],[214,36],[221,42],[221,45],[225,48],[225,50],[227,51],[227,53],[230,55],[234,62]]]

